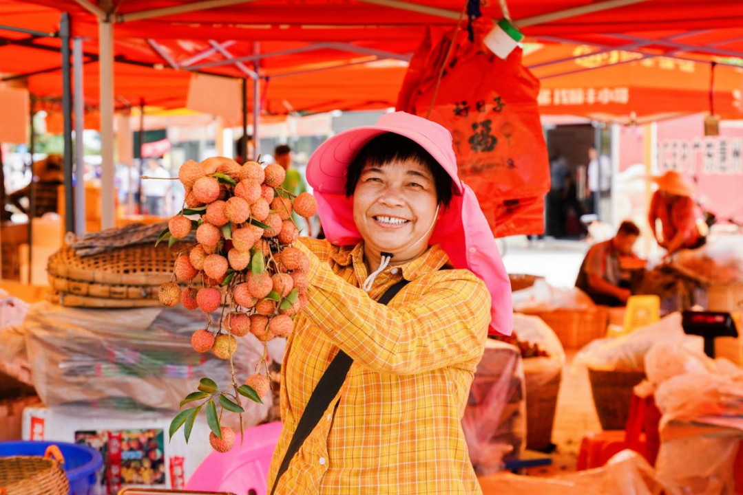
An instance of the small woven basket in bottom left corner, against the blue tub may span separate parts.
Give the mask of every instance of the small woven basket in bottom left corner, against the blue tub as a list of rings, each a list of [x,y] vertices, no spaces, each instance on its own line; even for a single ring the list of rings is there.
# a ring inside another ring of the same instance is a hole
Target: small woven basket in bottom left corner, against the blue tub
[[[69,491],[65,471],[53,459],[25,456],[0,458],[0,494],[67,495]]]

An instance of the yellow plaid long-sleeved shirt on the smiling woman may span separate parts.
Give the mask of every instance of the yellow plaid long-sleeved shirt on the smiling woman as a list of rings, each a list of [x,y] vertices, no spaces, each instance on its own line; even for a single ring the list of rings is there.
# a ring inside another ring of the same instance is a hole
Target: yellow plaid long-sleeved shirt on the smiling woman
[[[276,494],[479,494],[461,417],[490,323],[490,293],[438,245],[390,267],[367,294],[363,245],[302,239],[309,304],[282,365],[284,428],[268,487],[325,368],[343,348],[354,364]],[[404,277],[389,303],[376,302]]]

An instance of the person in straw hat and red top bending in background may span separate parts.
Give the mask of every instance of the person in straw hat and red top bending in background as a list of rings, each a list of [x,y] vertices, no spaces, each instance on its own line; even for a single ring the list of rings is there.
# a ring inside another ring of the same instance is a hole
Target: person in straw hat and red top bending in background
[[[658,244],[666,249],[669,257],[679,249],[696,249],[706,242],[706,232],[700,229],[704,224],[701,209],[693,196],[695,187],[684,175],[677,171],[652,177],[658,184],[650,203],[649,222]],[[661,222],[661,233],[656,227]]]

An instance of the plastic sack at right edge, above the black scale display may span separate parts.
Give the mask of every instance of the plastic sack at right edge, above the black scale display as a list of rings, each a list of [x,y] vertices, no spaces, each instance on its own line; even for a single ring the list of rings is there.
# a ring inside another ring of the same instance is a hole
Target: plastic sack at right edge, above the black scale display
[[[683,249],[671,266],[707,284],[727,285],[743,282],[743,235],[709,237],[699,249]]]

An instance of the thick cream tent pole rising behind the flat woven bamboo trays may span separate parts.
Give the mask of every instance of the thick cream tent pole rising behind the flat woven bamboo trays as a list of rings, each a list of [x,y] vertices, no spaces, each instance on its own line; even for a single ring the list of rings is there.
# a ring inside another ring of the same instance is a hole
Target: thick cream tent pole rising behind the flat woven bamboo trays
[[[100,65],[101,229],[111,229],[114,211],[114,24],[98,19]]]

